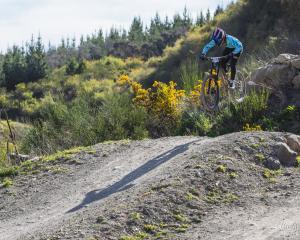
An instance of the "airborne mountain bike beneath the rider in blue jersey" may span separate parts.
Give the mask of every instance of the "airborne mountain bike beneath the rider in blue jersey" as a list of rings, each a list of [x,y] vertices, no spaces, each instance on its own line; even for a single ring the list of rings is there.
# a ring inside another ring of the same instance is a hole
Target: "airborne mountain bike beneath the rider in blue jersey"
[[[211,62],[210,74],[202,82],[201,102],[208,111],[216,111],[223,100],[242,102],[246,96],[246,80],[241,71],[237,71],[235,89],[229,88],[230,71],[221,69],[222,60],[228,56],[207,57]],[[229,64],[226,66],[230,69]]]

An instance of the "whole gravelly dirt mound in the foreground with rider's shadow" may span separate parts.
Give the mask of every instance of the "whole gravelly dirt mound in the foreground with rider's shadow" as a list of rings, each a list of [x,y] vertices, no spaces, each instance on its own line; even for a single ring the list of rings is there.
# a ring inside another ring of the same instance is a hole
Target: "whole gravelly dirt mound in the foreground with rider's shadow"
[[[0,239],[298,240],[287,135],[111,142],[27,162],[0,188]]]

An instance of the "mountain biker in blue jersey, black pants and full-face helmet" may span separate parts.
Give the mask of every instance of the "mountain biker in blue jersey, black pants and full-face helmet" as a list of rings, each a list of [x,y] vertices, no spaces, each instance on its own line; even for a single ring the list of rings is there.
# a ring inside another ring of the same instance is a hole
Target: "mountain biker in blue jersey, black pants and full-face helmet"
[[[227,72],[226,65],[230,61],[231,67],[231,78],[229,80],[229,87],[231,89],[235,88],[235,75],[236,75],[236,64],[239,57],[243,52],[243,44],[237,38],[226,34],[226,32],[221,28],[216,28],[212,34],[210,42],[205,45],[200,54],[200,59],[204,60],[208,51],[215,46],[224,45],[225,49],[223,51],[223,56],[228,56],[222,61],[221,66]]]

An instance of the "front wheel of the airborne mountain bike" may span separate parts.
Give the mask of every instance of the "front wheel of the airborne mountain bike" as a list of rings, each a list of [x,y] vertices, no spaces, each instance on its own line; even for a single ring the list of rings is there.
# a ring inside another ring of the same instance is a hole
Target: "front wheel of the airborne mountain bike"
[[[219,101],[220,87],[218,81],[216,81],[212,76],[208,76],[202,83],[202,105],[208,111],[215,111],[218,109]]]

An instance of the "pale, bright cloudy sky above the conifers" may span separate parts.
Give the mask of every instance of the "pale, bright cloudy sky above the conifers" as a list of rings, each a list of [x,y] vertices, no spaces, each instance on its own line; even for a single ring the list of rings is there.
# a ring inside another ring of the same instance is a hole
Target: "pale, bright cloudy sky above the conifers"
[[[31,35],[41,34],[45,43],[62,37],[90,34],[111,26],[128,28],[134,16],[144,23],[158,12],[161,16],[181,13],[186,5],[192,16],[201,9],[212,11],[231,0],[0,0],[0,50],[21,45]]]

